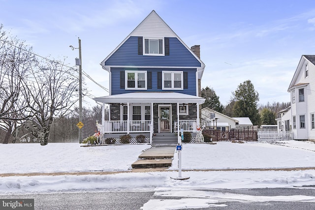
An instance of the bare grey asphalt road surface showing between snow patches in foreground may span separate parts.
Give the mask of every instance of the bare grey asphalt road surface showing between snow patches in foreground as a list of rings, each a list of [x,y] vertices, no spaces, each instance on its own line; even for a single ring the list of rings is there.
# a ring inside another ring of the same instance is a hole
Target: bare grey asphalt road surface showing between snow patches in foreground
[[[196,189],[194,189],[196,190]],[[249,190],[207,190],[253,196],[315,196],[315,188],[264,188]],[[0,198],[33,198],[35,210],[139,210],[151,199],[173,199],[180,197],[158,197],[155,192],[66,192],[51,194],[0,195]],[[202,210],[312,210],[312,202],[235,202],[223,201],[226,207],[201,208]],[[192,209],[186,209],[192,210]],[[196,209],[193,209],[196,210]]]

